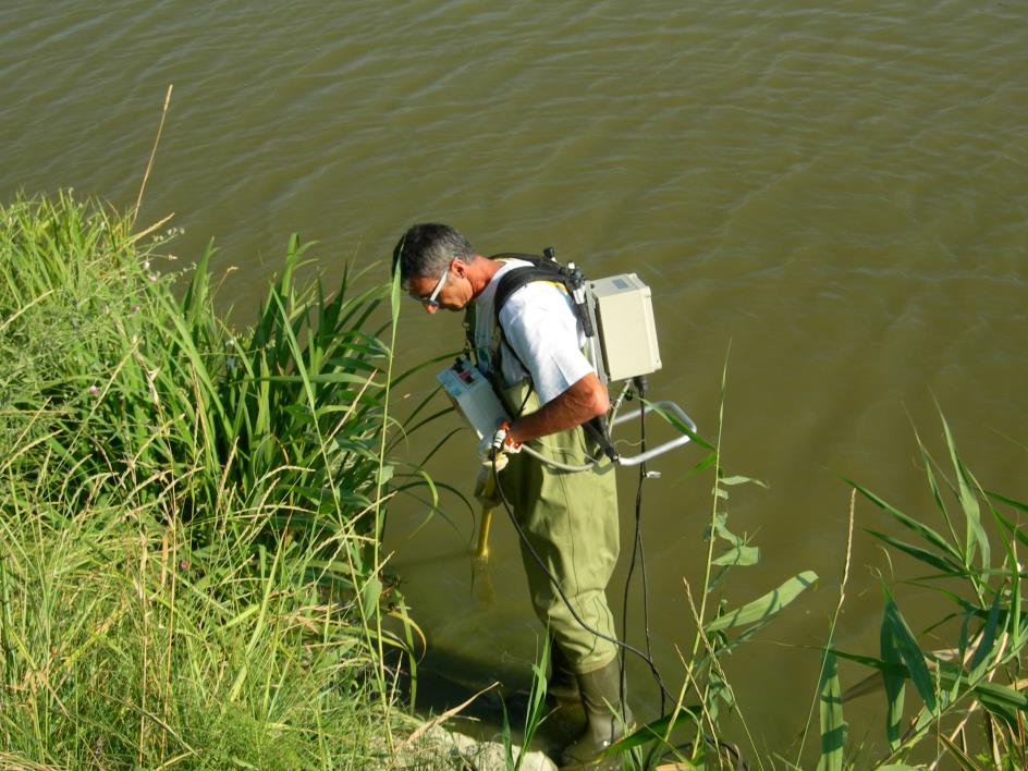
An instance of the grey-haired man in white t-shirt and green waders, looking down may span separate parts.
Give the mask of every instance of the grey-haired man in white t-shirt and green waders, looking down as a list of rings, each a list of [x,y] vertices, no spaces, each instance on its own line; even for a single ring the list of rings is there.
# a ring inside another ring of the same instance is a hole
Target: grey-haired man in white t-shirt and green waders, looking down
[[[548,692],[559,703],[580,700],[587,718],[562,762],[595,767],[631,722],[619,707],[624,688],[605,597],[619,550],[614,467],[604,460],[587,472],[562,472],[518,449],[526,444],[572,466],[591,464],[602,455],[582,426],[605,414],[610,400],[583,354],[582,325],[560,284],[535,281],[515,290],[497,327],[499,281],[527,265],[482,257],[456,230],[432,223],[412,227],[393,252],[393,271],[428,314],[465,311],[468,347],[512,417],[498,432],[507,461],[498,484],[524,534],[533,605],[552,638]]]

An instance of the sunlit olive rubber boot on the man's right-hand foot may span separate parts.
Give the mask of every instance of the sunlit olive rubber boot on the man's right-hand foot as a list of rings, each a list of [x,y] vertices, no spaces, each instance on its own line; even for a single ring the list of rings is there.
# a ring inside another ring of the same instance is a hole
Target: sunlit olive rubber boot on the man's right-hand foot
[[[620,769],[621,758],[600,758],[604,749],[632,727],[627,705],[621,711],[621,665],[615,658],[605,666],[577,675],[582,703],[586,710],[586,727],[582,735],[561,755],[562,771],[572,769]]]

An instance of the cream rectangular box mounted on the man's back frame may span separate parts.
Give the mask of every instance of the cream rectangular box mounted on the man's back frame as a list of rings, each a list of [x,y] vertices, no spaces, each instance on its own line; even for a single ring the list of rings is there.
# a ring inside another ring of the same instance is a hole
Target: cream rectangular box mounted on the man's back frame
[[[650,287],[635,273],[589,282],[609,380],[627,380],[660,369]]]

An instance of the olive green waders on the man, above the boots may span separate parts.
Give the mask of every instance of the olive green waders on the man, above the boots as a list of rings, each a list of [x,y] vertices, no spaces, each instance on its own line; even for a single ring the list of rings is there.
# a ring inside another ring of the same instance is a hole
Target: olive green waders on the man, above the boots
[[[507,389],[507,404],[521,405],[526,391],[524,383]],[[538,408],[533,392],[523,412]],[[598,450],[587,448],[580,427],[542,437],[528,442],[528,446],[575,466],[600,455]],[[563,472],[523,452],[510,456],[499,482],[529,543],[560,582],[578,617],[590,628],[616,638],[605,593],[619,550],[613,464],[604,458],[595,470]],[[524,541],[521,550],[533,607],[572,670],[586,674],[610,663],[616,654],[614,644],[583,628]]]

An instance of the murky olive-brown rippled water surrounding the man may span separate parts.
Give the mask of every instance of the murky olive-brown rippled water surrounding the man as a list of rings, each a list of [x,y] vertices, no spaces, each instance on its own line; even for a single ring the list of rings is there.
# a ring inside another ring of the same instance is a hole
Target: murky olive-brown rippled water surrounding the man
[[[820,5],[9,1],[0,196],[73,186],[131,206],[173,83],[140,221],[175,212],[183,259],[215,237],[216,267],[240,268],[222,292],[240,319],[291,231],[321,242],[329,273],[384,259],[425,219],[485,253],[552,244],[593,276],[640,273],[661,330],[653,394],[712,436],[727,362],[724,463],[770,484],[733,492],[730,524],[762,562],[730,579],[730,602],[822,576],[730,662],[760,746],[784,750],[817,657],[778,642],[824,638],[846,549],[840,475],[930,516],[913,427],[941,455],[938,402],[986,486],[1028,498],[1012,441],[1028,440],[1028,7]],[[404,318],[405,362],[456,347],[457,319],[421,321]],[[412,457],[432,440],[412,440]],[[466,490],[472,456],[454,443],[430,470]],[[692,640],[683,578],[702,580],[709,481],[683,473],[698,457],[654,464],[645,492],[650,629],[672,681]],[[621,494],[628,543],[633,474]],[[513,531],[497,524],[492,596],[473,591],[472,523],[445,503],[449,521],[407,501],[390,522],[429,669],[523,668],[537,629]],[[856,514],[839,640],[874,652],[888,568],[861,528],[884,523]],[[901,608],[932,617],[904,591]],[[633,683],[651,714],[641,668]],[[853,706],[855,724],[877,698]]]

